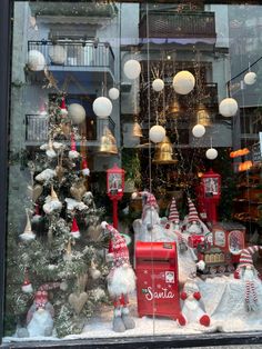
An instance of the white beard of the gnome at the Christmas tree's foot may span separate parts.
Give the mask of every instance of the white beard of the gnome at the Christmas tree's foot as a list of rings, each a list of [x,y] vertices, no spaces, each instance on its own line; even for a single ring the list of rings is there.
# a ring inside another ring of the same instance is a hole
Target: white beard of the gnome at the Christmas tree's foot
[[[53,327],[53,319],[46,309],[37,310],[31,321],[28,323],[30,337],[46,336],[46,330]]]

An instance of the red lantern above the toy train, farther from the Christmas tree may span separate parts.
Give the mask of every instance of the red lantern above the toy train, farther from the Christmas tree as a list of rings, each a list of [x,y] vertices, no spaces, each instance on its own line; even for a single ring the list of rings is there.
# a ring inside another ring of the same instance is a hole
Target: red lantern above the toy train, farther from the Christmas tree
[[[208,220],[215,223],[218,221],[216,206],[221,197],[221,176],[211,169],[201,177],[201,182]]]

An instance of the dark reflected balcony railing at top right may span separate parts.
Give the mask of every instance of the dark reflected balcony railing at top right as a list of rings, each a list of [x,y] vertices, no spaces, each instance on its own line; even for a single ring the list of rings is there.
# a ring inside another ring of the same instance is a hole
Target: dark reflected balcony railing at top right
[[[139,33],[140,38],[215,38],[214,13],[151,12],[148,19],[142,17]]]

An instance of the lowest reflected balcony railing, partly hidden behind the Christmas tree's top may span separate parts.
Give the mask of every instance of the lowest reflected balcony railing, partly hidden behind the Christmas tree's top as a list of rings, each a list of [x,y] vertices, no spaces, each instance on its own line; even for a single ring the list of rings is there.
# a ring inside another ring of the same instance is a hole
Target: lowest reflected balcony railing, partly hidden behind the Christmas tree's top
[[[89,126],[90,127],[90,126]],[[91,137],[87,133],[87,141],[90,141],[90,146],[100,141],[103,136],[104,128],[108,127],[109,130],[114,136],[115,123],[109,117],[107,119],[97,119],[93,122],[93,130],[90,132]],[[49,131],[49,117],[42,114],[27,114],[26,116],[26,142],[28,144],[39,143],[48,140]],[[94,137],[92,137],[94,134]]]

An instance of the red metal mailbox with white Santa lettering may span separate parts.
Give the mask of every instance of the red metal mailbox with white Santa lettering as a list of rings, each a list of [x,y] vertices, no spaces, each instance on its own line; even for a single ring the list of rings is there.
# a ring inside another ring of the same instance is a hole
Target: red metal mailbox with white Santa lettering
[[[175,242],[135,246],[138,313],[177,319],[180,312]]]

